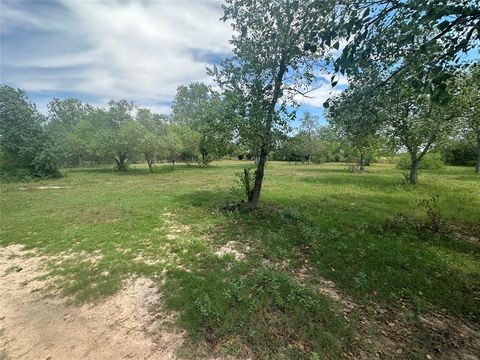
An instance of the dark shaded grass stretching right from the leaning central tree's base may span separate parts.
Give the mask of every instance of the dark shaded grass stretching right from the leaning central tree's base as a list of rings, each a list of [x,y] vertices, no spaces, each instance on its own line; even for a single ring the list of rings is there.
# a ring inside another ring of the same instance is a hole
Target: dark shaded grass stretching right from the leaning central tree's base
[[[223,199],[227,194],[222,193]],[[330,201],[298,196],[294,205],[290,198],[266,196],[259,210],[233,213],[221,209],[214,191],[182,194],[177,200],[225,214],[218,224],[221,231],[209,237],[240,239],[256,256],[275,264],[287,261],[292,271],[307,259],[321,276],[361,301],[371,301],[375,291],[375,301],[394,307],[402,298],[419,311],[433,306],[480,319],[475,305],[479,246],[410,227],[398,209],[415,210],[415,204],[406,204],[400,195],[389,197],[395,206],[385,201],[385,194],[359,194],[357,206],[349,194]],[[412,211],[412,216],[424,216],[422,211]],[[398,220],[398,228],[383,226],[389,217]]]

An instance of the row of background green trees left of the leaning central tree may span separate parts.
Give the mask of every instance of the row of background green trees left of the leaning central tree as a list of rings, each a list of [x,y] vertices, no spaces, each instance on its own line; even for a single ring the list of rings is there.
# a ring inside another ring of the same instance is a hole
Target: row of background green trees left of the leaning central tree
[[[222,99],[205,84],[180,86],[172,114],[154,114],[128,100],[94,107],[79,99],[53,99],[41,114],[25,91],[0,88],[2,170],[58,176],[60,166],[113,162],[209,164],[232,148],[233,130]]]

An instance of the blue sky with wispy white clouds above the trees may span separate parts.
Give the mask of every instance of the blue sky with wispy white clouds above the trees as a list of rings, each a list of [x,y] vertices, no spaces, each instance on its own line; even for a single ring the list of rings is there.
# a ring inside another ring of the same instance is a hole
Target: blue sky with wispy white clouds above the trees
[[[171,112],[178,86],[212,84],[205,68],[231,54],[231,27],[214,0],[1,0],[0,80],[47,113],[54,97],[95,106],[128,99]],[[323,122],[329,75],[302,99]],[[324,78],[322,81],[322,78]],[[346,82],[340,82],[344,87]]]

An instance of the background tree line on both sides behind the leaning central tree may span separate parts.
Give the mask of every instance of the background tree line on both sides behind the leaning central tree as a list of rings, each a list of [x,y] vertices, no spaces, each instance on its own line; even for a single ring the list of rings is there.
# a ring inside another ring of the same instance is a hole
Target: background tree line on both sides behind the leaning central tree
[[[393,159],[400,151],[410,156],[415,182],[420,161],[434,151],[447,164],[475,165],[478,172],[479,83],[478,67],[457,73],[448,83],[454,101],[447,104],[419,95],[408,83],[383,87],[381,94],[353,84],[325,104],[327,125],[306,112],[297,129],[275,133],[268,159],[357,162],[364,171],[376,158]],[[54,177],[62,166],[86,162],[112,162],[118,171],[132,162],[146,162],[150,171],[159,161],[208,165],[227,156],[258,162],[257,139],[242,136],[245,124],[235,105],[206,84],[192,83],[178,88],[170,115],[128,100],[100,108],[73,98],[51,100],[43,115],[24,91],[2,85],[2,171]]]

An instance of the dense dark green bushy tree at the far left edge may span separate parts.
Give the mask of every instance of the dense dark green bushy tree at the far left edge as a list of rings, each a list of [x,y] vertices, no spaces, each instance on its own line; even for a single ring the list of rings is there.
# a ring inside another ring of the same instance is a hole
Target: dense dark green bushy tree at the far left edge
[[[2,157],[12,167],[27,169],[33,176],[58,176],[58,149],[45,131],[45,120],[25,91],[0,86]]]

